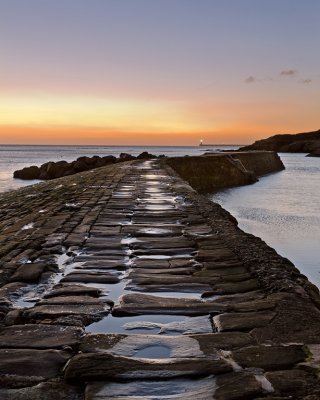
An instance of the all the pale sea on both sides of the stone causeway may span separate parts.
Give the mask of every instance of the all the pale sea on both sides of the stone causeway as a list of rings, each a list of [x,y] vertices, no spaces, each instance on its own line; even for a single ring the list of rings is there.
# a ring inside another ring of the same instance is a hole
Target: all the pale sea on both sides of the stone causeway
[[[38,181],[13,179],[13,172],[48,161],[73,161],[81,156],[138,155],[148,151],[166,156],[201,155],[207,151],[234,150],[235,146],[19,146],[0,145],[0,192]],[[280,154],[284,171],[259,179],[253,185],[210,194],[234,215],[239,227],[259,236],[291,260],[320,288],[320,158],[306,154]]]

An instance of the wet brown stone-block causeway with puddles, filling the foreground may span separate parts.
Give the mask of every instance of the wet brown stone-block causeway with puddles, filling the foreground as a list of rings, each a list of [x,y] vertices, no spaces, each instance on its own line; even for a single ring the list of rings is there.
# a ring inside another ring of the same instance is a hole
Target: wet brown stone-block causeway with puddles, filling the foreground
[[[160,160],[0,197],[0,398],[320,398],[319,292]]]

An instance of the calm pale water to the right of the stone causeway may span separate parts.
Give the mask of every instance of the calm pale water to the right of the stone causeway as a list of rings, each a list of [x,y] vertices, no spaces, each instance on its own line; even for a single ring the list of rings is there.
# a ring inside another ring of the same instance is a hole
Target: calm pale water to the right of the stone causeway
[[[211,198],[320,288],[320,158],[280,156],[286,170]]]

